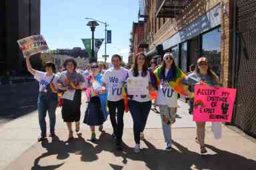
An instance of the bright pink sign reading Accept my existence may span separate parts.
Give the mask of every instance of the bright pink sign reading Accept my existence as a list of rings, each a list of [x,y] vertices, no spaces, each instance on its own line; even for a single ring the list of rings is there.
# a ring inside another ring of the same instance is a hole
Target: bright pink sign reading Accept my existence
[[[195,122],[231,122],[237,90],[196,85],[193,110]]]

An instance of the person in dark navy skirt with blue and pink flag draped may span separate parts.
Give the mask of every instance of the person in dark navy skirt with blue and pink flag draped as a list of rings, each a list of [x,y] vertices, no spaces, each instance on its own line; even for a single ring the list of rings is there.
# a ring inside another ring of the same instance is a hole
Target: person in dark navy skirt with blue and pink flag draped
[[[91,128],[91,141],[96,140],[95,126],[103,129],[103,122],[107,119],[107,90],[101,80],[102,74],[99,73],[99,65],[91,65],[91,74],[85,78],[86,95],[89,100],[83,123]]]

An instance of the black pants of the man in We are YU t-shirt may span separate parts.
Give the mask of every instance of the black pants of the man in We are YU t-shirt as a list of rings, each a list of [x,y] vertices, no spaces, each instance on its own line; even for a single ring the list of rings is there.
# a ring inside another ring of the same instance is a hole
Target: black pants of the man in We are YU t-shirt
[[[109,108],[110,121],[113,131],[117,137],[117,145],[120,145],[123,136],[123,114],[125,112],[125,103],[123,102],[123,99],[117,102],[107,101],[107,107]]]

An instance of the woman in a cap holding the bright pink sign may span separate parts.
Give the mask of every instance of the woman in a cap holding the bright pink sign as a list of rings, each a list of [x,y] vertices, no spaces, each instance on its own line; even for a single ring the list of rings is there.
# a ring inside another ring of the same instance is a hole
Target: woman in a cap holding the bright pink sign
[[[193,92],[195,85],[218,86],[220,81],[218,76],[210,69],[207,58],[201,57],[197,60],[197,68],[195,72],[189,74],[185,79],[183,79],[183,84],[191,86],[191,90]],[[200,145],[201,153],[207,153],[207,150],[205,149],[205,122],[196,122],[196,124],[196,140]]]

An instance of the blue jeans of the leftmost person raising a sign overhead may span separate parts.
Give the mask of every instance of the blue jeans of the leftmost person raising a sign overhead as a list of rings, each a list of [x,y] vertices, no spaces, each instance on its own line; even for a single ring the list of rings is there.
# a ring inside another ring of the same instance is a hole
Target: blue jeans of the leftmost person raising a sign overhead
[[[55,110],[57,108],[57,95],[50,96],[48,94],[43,94],[43,92],[39,93],[37,100],[37,109],[38,109],[38,118],[39,118],[39,126],[41,129],[41,137],[46,137],[46,112],[48,111],[48,116],[50,120],[50,133],[54,134],[55,132]]]

